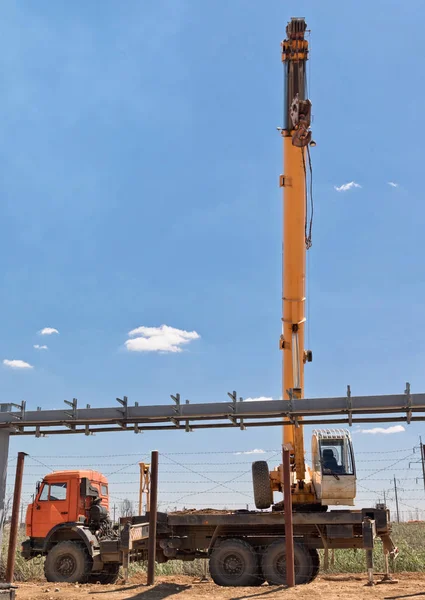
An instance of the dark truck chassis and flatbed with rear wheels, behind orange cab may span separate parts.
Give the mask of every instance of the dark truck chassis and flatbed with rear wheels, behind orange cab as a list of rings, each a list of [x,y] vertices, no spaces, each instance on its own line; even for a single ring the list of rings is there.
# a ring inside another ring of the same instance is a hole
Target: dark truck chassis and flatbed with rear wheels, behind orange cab
[[[124,566],[147,559],[148,523],[146,514],[133,517],[124,526],[120,541]],[[397,552],[391,540],[390,514],[385,508],[294,512],[293,531],[297,583],[308,583],[317,576],[318,549],[364,549],[370,563],[375,540],[380,538],[386,555]],[[257,581],[282,583],[286,573],[284,539],[282,511],[158,513],[156,559],[208,559],[211,575],[219,585],[254,585],[253,570]]]

